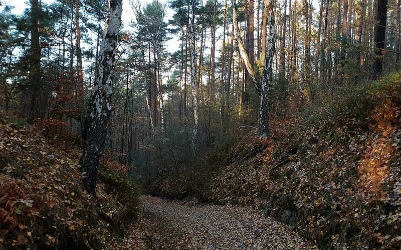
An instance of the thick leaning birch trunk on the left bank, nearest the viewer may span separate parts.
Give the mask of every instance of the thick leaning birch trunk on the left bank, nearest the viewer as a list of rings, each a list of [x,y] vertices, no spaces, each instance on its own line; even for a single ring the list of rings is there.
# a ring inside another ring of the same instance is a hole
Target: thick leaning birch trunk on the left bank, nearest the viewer
[[[84,185],[88,193],[93,195],[96,195],[97,168],[112,109],[113,64],[121,26],[122,0],[109,0],[107,12],[108,17],[99,49],[98,71],[91,95],[92,125],[81,159]]]

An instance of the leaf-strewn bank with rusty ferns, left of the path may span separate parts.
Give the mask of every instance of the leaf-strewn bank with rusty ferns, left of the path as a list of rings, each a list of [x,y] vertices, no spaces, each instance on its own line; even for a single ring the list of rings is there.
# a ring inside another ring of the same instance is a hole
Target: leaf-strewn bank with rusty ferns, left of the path
[[[124,248],[135,200],[121,199],[103,181],[97,198],[89,195],[81,184],[81,149],[16,121],[0,113],[0,248]]]

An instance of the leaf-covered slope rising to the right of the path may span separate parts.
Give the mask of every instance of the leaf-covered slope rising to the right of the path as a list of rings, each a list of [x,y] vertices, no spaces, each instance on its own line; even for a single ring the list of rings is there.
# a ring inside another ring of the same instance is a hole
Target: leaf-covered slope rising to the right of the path
[[[399,74],[344,88],[149,192],[264,210],[321,248],[401,247]],[[149,183],[151,183],[149,181]]]

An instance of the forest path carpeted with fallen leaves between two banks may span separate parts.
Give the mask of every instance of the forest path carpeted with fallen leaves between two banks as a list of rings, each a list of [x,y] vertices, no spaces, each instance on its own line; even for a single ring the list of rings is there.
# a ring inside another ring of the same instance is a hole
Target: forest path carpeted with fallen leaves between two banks
[[[143,211],[162,218],[179,235],[177,249],[315,248],[287,225],[251,207],[196,204],[154,196],[142,197]],[[168,243],[167,243],[168,244]],[[164,245],[164,243],[158,243]]]

